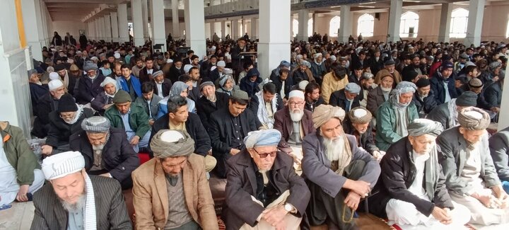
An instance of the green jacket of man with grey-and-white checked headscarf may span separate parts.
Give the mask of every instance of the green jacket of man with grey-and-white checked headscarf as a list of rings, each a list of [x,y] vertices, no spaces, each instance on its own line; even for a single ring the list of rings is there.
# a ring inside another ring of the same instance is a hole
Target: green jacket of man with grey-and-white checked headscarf
[[[406,118],[407,123],[414,121],[419,118],[417,108],[413,102],[406,107]],[[387,151],[391,144],[402,139],[402,136],[396,133],[396,111],[392,108],[391,100],[387,100],[377,110],[376,115],[376,135],[375,143],[382,151]]]

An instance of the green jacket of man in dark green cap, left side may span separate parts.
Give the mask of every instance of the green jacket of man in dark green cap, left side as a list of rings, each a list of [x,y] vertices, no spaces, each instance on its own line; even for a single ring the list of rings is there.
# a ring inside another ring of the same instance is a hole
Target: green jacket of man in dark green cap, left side
[[[120,112],[117,110],[115,105],[106,110],[105,117],[110,120],[112,127],[123,128],[125,130],[124,122],[122,122]],[[131,129],[136,132],[136,136],[140,139],[145,136],[148,130],[150,130],[150,125],[148,125],[148,115],[145,113],[144,108],[140,105],[131,103],[131,110],[129,111],[129,125],[131,125]]]

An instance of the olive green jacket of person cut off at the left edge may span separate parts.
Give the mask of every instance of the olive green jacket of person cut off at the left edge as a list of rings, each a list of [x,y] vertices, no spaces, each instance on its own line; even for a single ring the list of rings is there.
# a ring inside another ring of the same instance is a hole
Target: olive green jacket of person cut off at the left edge
[[[7,138],[6,136],[10,136],[4,142],[4,151],[7,161],[16,169],[18,184],[32,185],[34,180],[33,171],[35,168],[40,168],[40,165],[37,162],[37,157],[35,157],[32,149],[30,149],[23,131],[7,123],[5,130],[2,130],[0,127],[0,134],[2,141]]]

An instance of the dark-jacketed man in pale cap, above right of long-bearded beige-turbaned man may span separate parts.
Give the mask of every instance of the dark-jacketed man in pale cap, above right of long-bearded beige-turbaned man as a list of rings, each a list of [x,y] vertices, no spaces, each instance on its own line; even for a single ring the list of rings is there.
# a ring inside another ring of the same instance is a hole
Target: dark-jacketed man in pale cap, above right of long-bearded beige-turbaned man
[[[345,88],[331,94],[329,105],[339,106],[345,110],[346,113],[349,113],[351,108],[361,106],[361,101],[358,96],[360,92],[361,86],[358,84],[353,82],[346,84]]]

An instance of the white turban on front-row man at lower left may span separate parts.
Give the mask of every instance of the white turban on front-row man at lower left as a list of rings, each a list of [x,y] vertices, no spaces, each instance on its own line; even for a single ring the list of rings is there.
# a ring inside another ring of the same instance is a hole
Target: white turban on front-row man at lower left
[[[85,159],[79,151],[66,151],[45,158],[41,168],[46,180],[54,180],[81,171],[85,168]]]

